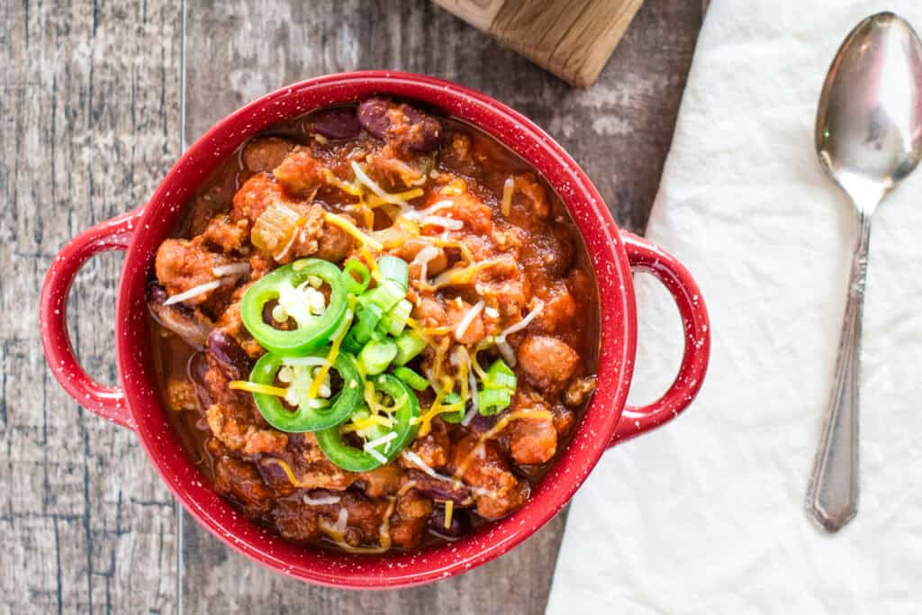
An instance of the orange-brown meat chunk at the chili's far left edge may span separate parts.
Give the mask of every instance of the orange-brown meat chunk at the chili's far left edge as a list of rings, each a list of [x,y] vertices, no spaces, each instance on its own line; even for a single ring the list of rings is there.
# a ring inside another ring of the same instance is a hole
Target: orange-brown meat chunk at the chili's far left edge
[[[215,281],[214,268],[230,262],[223,254],[208,252],[201,242],[168,239],[160,243],[154,268],[160,284],[172,296]],[[213,292],[208,290],[199,293],[183,303],[199,305],[206,302]]]

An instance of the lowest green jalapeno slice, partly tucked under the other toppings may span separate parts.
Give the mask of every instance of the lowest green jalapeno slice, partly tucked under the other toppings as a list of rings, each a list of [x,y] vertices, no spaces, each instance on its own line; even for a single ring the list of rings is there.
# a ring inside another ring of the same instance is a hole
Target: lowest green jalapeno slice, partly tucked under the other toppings
[[[380,446],[373,447],[375,453],[346,444],[339,432],[339,426],[316,433],[317,444],[326,458],[350,472],[367,472],[393,461],[396,455],[416,438],[418,430],[416,425],[411,424],[414,418],[420,416],[420,402],[416,395],[389,374],[374,376],[371,382],[375,390],[390,396],[394,403],[398,404],[394,413],[396,425],[392,429],[374,429],[374,434],[380,433],[380,437],[366,443],[367,449],[375,441],[381,441]],[[396,436],[390,436],[395,432]]]

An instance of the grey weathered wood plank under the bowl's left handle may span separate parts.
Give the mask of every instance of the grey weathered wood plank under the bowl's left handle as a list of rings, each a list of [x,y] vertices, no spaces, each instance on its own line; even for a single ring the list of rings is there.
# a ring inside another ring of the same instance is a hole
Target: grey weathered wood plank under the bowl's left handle
[[[0,23],[0,605],[167,612],[173,504],[131,432],[46,372],[41,280],[61,245],[144,201],[179,151],[179,7],[167,0],[3,4]],[[70,302],[83,363],[115,381],[121,259]]]

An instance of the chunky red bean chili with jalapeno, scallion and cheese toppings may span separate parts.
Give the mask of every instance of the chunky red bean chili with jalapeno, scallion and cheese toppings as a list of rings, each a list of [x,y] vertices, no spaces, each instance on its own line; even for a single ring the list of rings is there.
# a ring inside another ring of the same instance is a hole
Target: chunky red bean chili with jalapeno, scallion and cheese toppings
[[[274,126],[172,235],[148,289],[164,404],[284,538],[413,550],[510,514],[595,388],[596,285],[559,199],[417,105]]]

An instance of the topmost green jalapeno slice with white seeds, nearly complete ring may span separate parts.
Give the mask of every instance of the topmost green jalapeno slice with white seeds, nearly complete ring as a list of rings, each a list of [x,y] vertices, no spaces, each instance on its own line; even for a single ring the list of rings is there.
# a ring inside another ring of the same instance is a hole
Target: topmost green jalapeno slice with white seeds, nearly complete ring
[[[312,286],[325,282],[329,300]],[[259,344],[275,354],[302,357],[329,342],[346,312],[347,291],[339,267],[319,258],[303,258],[259,278],[244,294],[243,325]],[[266,324],[266,303],[278,301],[273,319],[297,325],[290,331]]]

